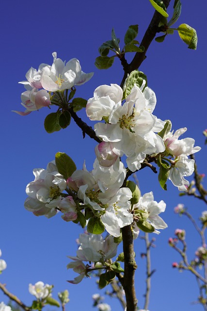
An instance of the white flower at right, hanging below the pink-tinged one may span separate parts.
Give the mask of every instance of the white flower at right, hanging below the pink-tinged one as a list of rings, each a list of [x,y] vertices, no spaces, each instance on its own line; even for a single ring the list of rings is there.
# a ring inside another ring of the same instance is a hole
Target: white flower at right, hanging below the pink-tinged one
[[[180,191],[186,191],[190,185],[189,181],[184,176],[190,176],[194,172],[193,159],[189,159],[187,156],[179,156],[175,162],[175,166],[170,169],[169,179],[172,181],[175,187]]]

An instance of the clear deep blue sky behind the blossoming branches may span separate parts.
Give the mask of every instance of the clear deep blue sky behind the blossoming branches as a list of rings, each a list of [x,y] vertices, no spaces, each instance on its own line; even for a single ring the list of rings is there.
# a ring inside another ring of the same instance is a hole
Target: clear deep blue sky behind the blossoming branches
[[[202,147],[196,154],[199,173],[206,172],[206,146],[202,131],[206,122],[206,19],[207,4],[195,6],[194,1],[183,0],[180,19],[175,24],[187,23],[197,30],[198,47],[192,51],[180,40],[177,33],[169,35],[160,44],[152,42],[142,70],[148,78],[148,86],[156,93],[157,106],[154,114],[170,119],[173,129],[187,127],[185,137],[195,139],[195,145]],[[169,12],[172,13],[171,4]],[[94,89],[102,84],[120,84],[123,69],[115,59],[108,70],[96,69],[94,62],[98,47],[111,38],[114,27],[117,37],[123,43],[129,25],[139,24],[138,40],[141,41],[154,10],[149,1],[140,0],[88,0],[79,2],[65,0],[37,0],[35,3],[20,0],[4,1],[1,4],[1,208],[0,208],[0,249],[7,269],[0,276],[0,282],[26,304],[32,302],[28,284],[42,280],[54,284],[54,297],[64,289],[70,293],[67,310],[88,311],[92,308],[92,294],[98,292],[94,279],[84,279],[79,285],[66,282],[74,275],[66,270],[67,255],[75,256],[80,227],[64,222],[60,215],[52,219],[35,217],[24,209],[25,187],[33,180],[33,168],[46,168],[58,151],[70,155],[81,169],[86,160],[88,170],[95,159],[96,143],[82,133],[73,122],[60,132],[48,134],[44,130],[44,119],[51,111],[48,108],[32,112],[26,117],[18,116],[11,110],[21,110],[20,94],[24,91],[18,82],[25,79],[30,67],[38,68],[41,63],[52,63],[52,52],[68,61],[76,57],[84,72],[94,71],[94,77],[77,88],[77,97],[89,99]],[[124,43],[123,43],[124,44]],[[127,55],[130,60],[132,55]],[[79,116],[87,121],[84,111]],[[93,122],[90,123],[93,126]],[[173,208],[184,203],[197,219],[205,209],[198,200],[179,197],[178,190],[168,183],[168,191],[161,190],[157,175],[149,169],[137,173],[142,193],[153,191],[156,201],[167,204],[162,215],[168,228],[156,238],[152,250],[152,278],[150,311],[188,310],[200,311],[202,307],[192,305],[198,294],[196,282],[188,273],[178,273],[171,268],[178,261],[177,254],[168,246],[168,238],[175,228],[186,228],[190,258],[198,246],[199,238],[192,225],[174,214]],[[189,178],[191,180],[191,178]],[[205,182],[204,182],[205,184]],[[151,234],[151,236],[154,236]],[[139,306],[143,307],[145,290],[145,262],[140,258],[143,241],[135,241],[138,270],[136,289]],[[120,250],[121,251],[121,250]],[[103,293],[103,292],[102,292]],[[0,293],[0,301],[7,298]],[[118,310],[119,303],[107,299],[112,310]],[[55,308],[50,308],[53,310]],[[48,308],[46,307],[46,310]]]

